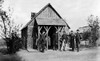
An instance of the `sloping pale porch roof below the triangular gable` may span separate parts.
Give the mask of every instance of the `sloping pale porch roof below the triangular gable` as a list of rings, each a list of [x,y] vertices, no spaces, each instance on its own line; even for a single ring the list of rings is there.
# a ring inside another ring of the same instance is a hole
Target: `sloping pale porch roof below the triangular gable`
[[[66,22],[63,19],[43,19],[36,18],[38,25],[57,25],[57,26],[66,26]]]

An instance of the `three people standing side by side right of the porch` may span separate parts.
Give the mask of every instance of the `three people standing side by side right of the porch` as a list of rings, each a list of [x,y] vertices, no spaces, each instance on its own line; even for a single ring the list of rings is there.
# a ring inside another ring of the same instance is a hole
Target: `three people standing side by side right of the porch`
[[[61,38],[58,40],[60,48],[60,51],[65,51],[66,47],[71,48],[71,51],[74,51],[75,49],[77,52],[79,52],[80,47],[80,41],[81,41],[81,35],[79,33],[79,30],[74,33],[73,31],[70,32],[70,34],[66,34],[63,32]]]

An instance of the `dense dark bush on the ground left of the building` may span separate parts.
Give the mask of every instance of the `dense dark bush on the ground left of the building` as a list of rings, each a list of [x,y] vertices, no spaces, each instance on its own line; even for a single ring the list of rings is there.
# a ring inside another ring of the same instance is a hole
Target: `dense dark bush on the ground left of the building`
[[[22,39],[15,32],[12,32],[11,36],[11,38],[7,38],[8,53],[15,53],[22,48]]]

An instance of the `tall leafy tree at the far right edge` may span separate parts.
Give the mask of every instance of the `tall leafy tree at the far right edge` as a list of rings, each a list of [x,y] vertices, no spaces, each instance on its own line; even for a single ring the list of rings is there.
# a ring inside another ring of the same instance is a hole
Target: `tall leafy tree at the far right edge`
[[[91,45],[96,46],[96,40],[99,38],[99,18],[90,15],[88,18],[88,25],[91,27]]]

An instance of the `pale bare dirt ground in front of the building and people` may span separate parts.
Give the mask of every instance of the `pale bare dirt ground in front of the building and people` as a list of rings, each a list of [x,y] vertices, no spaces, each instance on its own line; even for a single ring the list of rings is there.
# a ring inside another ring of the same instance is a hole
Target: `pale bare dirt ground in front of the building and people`
[[[100,47],[82,49],[80,52],[48,50],[41,53],[37,50],[21,50],[17,54],[22,57],[22,61],[100,61]]]

